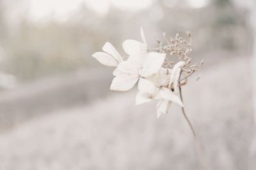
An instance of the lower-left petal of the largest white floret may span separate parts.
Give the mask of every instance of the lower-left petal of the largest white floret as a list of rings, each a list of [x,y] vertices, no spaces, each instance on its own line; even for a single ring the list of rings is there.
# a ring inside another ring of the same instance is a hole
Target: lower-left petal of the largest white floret
[[[112,81],[110,89],[113,91],[129,91],[134,87],[137,81],[138,77],[115,77]]]

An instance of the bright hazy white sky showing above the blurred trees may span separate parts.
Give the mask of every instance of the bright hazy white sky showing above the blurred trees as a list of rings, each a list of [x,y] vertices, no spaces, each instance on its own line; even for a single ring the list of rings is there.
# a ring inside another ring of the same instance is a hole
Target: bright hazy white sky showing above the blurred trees
[[[207,6],[210,0],[186,0],[191,8]],[[170,8],[177,5],[177,0],[164,0],[164,4]],[[154,0],[31,0],[29,4],[29,18],[32,20],[44,20],[54,16],[57,20],[66,20],[70,13],[75,12],[82,4],[97,12],[99,15],[108,13],[111,6],[120,10],[136,12],[147,8]]]

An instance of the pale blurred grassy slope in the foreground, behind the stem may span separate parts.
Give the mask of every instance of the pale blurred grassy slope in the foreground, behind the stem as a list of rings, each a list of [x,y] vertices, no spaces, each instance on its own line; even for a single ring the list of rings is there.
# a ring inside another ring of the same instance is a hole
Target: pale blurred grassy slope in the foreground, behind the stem
[[[184,104],[211,169],[256,169],[250,59],[204,70],[184,88]],[[0,169],[201,169],[180,108],[156,118],[136,92],[46,114],[0,134]]]

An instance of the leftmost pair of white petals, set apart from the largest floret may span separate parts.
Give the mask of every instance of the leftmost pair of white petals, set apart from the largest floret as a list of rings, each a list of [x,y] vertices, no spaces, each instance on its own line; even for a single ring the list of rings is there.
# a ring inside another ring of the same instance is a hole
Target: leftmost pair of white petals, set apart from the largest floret
[[[118,51],[109,42],[106,42],[102,47],[104,52],[95,52],[92,54],[93,58],[97,59],[102,65],[118,66],[123,61]]]

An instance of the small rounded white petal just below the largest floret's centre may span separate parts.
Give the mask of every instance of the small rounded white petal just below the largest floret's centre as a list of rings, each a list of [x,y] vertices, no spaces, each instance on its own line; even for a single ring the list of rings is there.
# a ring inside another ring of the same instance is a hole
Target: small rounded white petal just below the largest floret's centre
[[[157,88],[153,82],[148,81],[147,79],[141,78],[138,83],[138,89],[143,95],[153,98],[154,93],[156,92]]]

